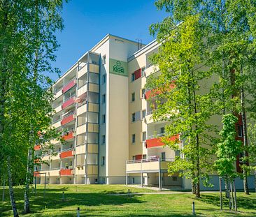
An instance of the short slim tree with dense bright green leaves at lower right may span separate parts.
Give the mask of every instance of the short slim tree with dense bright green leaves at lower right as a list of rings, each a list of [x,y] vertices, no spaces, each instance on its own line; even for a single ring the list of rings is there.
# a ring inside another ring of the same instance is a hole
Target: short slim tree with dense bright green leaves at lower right
[[[215,160],[215,168],[220,175],[224,178],[227,183],[231,185],[234,183],[234,178],[237,177],[236,168],[234,167],[236,162],[236,156],[241,152],[241,141],[236,140],[236,127],[235,124],[238,118],[233,114],[225,114],[222,117],[223,128],[220,131],[221,142],[217,145]],[[231,188],[232,189],[232,188]],[[221,186],[220,186],[221,192]],[[236,196],[236,194],[235,194]],[[230,194],[229,194],[230,197]],[[220,195],[220,201],[222,198]],[[233,193],[232,193],[233,203]],[[236,203],[236,198],[235,198]],[[222,207],[222,204],[221,204]],[[236,207],[236,204],[235,204]]]

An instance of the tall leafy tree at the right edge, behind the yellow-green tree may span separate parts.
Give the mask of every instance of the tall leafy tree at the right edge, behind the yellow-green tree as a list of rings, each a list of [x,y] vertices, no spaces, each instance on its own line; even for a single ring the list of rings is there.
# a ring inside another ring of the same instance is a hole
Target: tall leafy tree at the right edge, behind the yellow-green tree
[[[168,37],[166,27],[170,27],[170,22],[178,24],[189,15],[198,15],[199,23],[208,29],[204,31],[208,54],[204,63],[218,77],[212,89],[215,93],[215,111],[220,115],[234,113],[241,116],[244,150],[248,147],[248,114],[255,112],[255,5],[255,0],[156,1],[157,8],[165,9],[171,17],[157,24],[162,38]],[[248,93],[253,99],[249,100]],[[248,164],[246,155],[246,151],[243,151],[243,165]],[[248,193],[248,172],[245,168],[243,187]]]

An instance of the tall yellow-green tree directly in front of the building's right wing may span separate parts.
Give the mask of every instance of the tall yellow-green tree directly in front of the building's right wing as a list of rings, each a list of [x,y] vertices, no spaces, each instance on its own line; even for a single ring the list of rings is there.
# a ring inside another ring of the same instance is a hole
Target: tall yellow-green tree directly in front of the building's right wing
[[[164,142],[171,149],[179,150],[169,165],[169,173],[180,172],[190,177],[192,192],[200,197],[200,180],[208,184],[208,172],[211,171],[211,146],[214,126],[208,124],[211,113],[211,92],[202,85],[211,77],[204,68],[204,29],[197,15],[189,15],[183,23],[173,24],[171,17],[162,24],[152,26],[161,43],[159,52],[152,57],[152,63],[159,67],[161,74],[152,75],[146,87],[152,90],[157,103],[153,112],[155,120],[171,121],[166,126]],[[180,135],[183,147],[170,142],[168,137]]]

